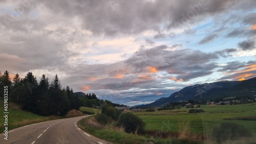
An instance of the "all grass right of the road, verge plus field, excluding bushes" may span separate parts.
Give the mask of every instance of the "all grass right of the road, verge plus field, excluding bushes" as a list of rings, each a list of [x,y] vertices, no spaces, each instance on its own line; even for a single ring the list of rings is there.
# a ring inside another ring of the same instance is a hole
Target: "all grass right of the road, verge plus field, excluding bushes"
[[[200,108],[194,109],[203,109],[205,113],[188,113],[189,109],[186,108],[172,111],[133,112],[146,123],[147,133],[144,136],[127,134],[122,130],[88,123],[86,119],[79,122],[79,127],[113,143],[197,143],[199,141],[195,140],[199,138],[203,138],[203,143],[216,143],[213,129],[227,122],[244,126],[252,136],[226,139],[222,141],[223,143],[256,141],[256,104],[201,105]],[[243,121],[243,119],[249,119],[249,121]]]

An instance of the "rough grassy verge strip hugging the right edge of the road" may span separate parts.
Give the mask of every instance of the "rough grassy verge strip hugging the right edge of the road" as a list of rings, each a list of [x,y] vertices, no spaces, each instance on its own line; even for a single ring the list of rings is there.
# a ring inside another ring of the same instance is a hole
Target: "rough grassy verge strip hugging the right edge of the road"
[[[78,122],[78,126],[84,130],[89,132],[90,134],[99,137],[101,139],[106,139],[113,143],[200,143],[197,141],[191,141],[186,138],[161,138],[156,137],[153,138],[149,135],[141,136],[135,134],[125,133],[124,130],[116,129],[111,125],[107,125],[105,127],[99,125],[94,120],[94,116],[90,116],[87,118],[83,118]]]

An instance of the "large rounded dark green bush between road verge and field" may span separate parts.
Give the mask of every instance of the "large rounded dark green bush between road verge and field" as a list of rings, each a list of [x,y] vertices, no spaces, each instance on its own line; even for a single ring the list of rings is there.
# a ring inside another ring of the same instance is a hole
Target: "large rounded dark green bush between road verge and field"
[[[117,126],[122,126],[126,133],[135,133],[137,131],[138,134],[142,134],[145,131],[146,123],[137,115],[127,112],[120,114]]]

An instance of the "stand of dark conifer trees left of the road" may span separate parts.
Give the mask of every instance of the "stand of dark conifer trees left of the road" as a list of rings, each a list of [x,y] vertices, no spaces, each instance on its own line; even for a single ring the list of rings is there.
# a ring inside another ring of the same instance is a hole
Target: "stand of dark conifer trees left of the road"
[[[19,104],[23,110],[39,115],[65,115],[71,109],[79,109],[79,98],[69,86],[62,88],[58,76],[49,82],[46,75],[42,75],[39,82],[32,72],[28,72],[25,78],[18,74],[13,80],[6,70],[0,72],[1,93],[4,86],[8,86],[8,101]],[[3,95],[3,94],[1,94]],[[1,96],[3,99],[3,96]]]

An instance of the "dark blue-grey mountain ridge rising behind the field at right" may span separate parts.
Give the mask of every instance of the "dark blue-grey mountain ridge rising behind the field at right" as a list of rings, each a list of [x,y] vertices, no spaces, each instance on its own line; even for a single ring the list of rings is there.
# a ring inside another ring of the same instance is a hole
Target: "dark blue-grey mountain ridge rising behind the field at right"
[[[219,81],[187,86],[167,98],[160,98],[151,104],[136,107],[156,107],[188,100],[209,101],[254,94],[256,94],[256,77],[244,81]]]

